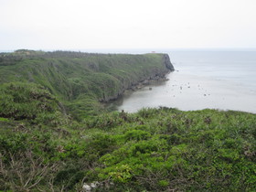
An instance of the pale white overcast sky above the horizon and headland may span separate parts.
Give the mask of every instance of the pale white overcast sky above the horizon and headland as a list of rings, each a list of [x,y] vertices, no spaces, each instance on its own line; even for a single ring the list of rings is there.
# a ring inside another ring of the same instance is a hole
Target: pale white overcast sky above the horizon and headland
[[[0,0],[0,50],[256,48],[256,0]]]

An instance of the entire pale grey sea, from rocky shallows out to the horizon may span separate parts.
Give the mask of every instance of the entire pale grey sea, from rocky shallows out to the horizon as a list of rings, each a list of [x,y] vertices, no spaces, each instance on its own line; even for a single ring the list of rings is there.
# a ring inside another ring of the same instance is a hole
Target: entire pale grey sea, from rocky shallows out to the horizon
[[[164,82],[126,91],[113,101],[116,110],[172,107],[256,113],[256,51],[171,51],[176,71]]]

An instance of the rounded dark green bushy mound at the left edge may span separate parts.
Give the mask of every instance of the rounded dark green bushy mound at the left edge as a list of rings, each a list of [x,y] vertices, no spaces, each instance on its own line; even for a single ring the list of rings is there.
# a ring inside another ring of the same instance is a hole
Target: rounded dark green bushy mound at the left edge
[[[61,112],[59,102],[42,86],[11,82],[0,86],[0,116],[53,125]]]

